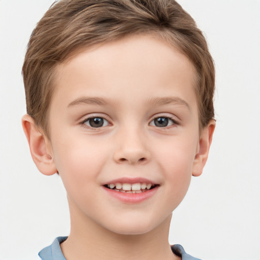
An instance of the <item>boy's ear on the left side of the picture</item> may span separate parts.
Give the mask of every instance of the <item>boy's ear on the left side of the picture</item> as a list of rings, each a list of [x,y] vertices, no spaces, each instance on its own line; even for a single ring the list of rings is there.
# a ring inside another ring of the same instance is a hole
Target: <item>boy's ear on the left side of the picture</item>
[[[27,114],[22,117],[22,127],[30,147],[31,157],[39,171],[45,175],[55,174],[57,168],[50,141],[38,130],[35,120]]]

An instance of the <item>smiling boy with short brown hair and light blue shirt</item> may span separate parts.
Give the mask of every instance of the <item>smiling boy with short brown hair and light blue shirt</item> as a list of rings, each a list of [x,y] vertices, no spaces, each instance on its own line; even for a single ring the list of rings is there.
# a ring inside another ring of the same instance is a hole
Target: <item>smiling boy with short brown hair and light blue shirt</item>
[[[58,259],[197,259],[170,246],[173,210],[205,166],[215,128],[214,64],[173,0],[61,0],[23,65],[32,159],[67,190]]]

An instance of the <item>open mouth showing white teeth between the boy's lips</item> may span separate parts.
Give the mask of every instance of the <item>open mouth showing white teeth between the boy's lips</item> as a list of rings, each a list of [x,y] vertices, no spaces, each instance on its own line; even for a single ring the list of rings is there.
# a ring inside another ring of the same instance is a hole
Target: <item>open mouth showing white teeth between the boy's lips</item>
[[[112,189],[114,191],[122,192],[122,193],[143,193],[148,190],[154,189],[159,186],[154,183],[146,183],[146,182],[137,182],[137,183],[108,183],[103,185],[105,188]]]

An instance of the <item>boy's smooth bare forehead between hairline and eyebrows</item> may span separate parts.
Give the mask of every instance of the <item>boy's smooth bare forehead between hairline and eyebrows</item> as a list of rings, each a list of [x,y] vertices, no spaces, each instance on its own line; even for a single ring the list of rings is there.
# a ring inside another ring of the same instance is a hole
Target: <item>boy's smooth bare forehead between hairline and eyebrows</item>
[[[59,64],[52,103],[68,106],[84,95],[115,103],[177,95],[192,103],[195,75],[192,63],[176,47],[152,36],[128,36],[80,49]]]

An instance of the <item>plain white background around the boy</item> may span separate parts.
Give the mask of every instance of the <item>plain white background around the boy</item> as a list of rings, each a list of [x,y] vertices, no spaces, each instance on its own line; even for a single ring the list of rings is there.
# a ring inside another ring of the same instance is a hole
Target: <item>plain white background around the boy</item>
[[[32,260],[69,234],[66,192],[40,174],[21,127],[21,67],[52,0],[0,0],[0,259]],[[170,242],[205,260],[260,259],[260,1],[180,0],[216,63],[217,127],[201,177],[173,215]]]

